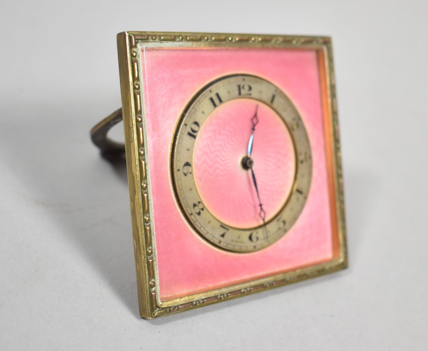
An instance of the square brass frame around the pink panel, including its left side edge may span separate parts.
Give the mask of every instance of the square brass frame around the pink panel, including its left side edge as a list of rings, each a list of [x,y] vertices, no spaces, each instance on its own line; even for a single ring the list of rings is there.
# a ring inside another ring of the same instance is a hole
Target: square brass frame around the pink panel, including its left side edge
[[[209,305],[222,300],[295,283],[331,273],[348,265],[345,230],[345,207],[332,44],[329,37],[278,36],[255,34],[123,32],[117,35],[122,114],[125,129],[125,152],[134,235],[140,315],[154,318]],[[152,232],[152,203],[146,140],[145,104],[141,81],[141,47],[241,47],[299,48],[317,50],[322,87],[323,118],[326,137],[330,209],[333,228],[333,259],[282,274],[252,280],[222,289],[160,301],[156,265],[155,233]],[[326,118],[328,116],[328,119]]]

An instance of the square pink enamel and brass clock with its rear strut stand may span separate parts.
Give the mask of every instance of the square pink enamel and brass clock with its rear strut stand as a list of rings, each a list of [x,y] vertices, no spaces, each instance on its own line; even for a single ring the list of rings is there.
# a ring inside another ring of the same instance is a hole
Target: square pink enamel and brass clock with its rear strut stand
[[[117,36],[140,314],[153,318],[347,265],[331,40]]]

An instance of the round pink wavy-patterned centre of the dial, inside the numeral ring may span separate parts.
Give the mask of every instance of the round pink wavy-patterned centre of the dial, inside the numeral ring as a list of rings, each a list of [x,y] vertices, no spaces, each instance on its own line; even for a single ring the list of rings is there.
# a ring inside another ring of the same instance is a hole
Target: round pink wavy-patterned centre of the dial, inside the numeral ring
[[[217,107],[202,125],[193,154],[193,172],[206,208],[228,226],[263,224],[251,171],[242,167],[252,133],[253,171],[266,222],[285,204],[296,172],[294,146],[285,122],[267,105],[240,98]]]

